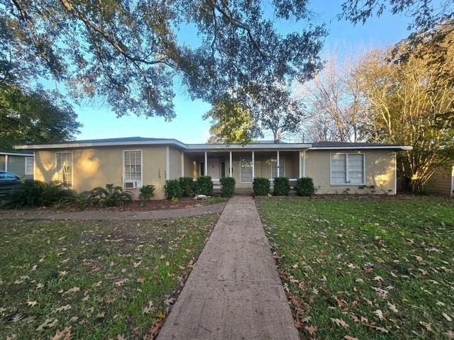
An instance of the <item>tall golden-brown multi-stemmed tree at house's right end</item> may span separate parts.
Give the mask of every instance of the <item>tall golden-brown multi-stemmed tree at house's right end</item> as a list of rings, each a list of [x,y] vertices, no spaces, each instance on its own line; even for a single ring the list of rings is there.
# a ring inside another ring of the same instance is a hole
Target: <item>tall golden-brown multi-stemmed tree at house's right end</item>
[[[453,45],[447,48],[454,55]],[[438,167],[454,162],[454,87],[438,77],[438,64],[416,56],[400,63],[385,57],[375,52],[358,69],[368,102],[363,132],[370,142],[413,147],[398,153],[398,170],[418,192]]]

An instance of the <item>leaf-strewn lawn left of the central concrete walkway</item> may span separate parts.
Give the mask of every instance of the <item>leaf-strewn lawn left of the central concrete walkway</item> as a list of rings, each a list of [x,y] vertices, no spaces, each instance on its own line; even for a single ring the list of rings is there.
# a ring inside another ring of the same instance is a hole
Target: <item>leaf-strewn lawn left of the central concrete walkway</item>
[[[216,220],[0,221],[0,339],[143,339]]]

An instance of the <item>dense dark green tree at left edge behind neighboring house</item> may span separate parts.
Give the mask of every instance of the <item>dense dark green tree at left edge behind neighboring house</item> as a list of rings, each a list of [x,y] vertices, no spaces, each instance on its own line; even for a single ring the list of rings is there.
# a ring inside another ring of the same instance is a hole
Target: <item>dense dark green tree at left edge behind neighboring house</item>
[[[72,107],[57,94],[0,84],[1,147],[71,140],[81,126]]]

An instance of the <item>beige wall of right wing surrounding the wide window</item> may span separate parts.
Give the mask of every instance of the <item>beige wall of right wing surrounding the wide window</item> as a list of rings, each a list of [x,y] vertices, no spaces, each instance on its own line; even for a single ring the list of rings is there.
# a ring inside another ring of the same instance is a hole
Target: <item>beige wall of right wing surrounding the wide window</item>
[[[338,186],[330,184],[330,154],[365,154],[365,185],[375,189],[360,188],[358,185]],[[316,193],[394,193],[394,153],[381,150],[370,151],[307,151],[306,176],[314,179]],[[349,189],[346,191],[346,189]]]

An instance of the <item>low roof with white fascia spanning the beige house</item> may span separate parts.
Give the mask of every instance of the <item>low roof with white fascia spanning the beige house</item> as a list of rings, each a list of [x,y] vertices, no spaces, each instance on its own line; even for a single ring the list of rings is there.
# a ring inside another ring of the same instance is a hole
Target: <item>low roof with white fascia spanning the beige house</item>
[[[314,143],[273,143],[270,141],[253,141],[246,145],[241,144],[185,144],[174,138],[151,138],[151,137],[120,137],[104,138],[96,140],[70,140],[60,143],[43,143],[39,145],[18,145],[15,149],[65,149],[76,147],[128,147],[134,145],[162,145],[172,146],[187,151],[209,150],[244,150],[244,149],[394,149],[406,150],[411,147],[389,144],[350,143],[350,142],[314,142]]]

